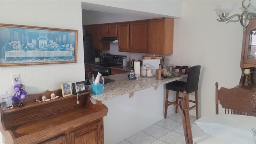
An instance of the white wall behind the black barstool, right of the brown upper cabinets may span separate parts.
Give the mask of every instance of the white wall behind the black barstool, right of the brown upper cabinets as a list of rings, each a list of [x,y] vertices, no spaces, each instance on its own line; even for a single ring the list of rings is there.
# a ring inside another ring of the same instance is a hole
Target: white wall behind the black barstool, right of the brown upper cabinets
[[[223,2],[183,2],[182,18],[175,20],[174,54],[169,56],[169,62],[202,66],[198,90],[199,113],[202,117],[215,114],[215,82],[219,83],[219,88],[233,88],[239,84],[242,72],[240,56],[243,27],[240,22],[226,24],[216,21],[218,16],[213,9],[216,4]],[[242,0],[234,2],[238,3],[238,6],[230,16],[242,13],[238,9],[242,6]]]

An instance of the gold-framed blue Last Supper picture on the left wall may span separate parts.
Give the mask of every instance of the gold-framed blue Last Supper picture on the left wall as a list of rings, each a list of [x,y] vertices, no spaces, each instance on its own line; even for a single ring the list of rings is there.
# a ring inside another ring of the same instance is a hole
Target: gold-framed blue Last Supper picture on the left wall
[[[77,62],[77,30],[0,24],[0,66]]]

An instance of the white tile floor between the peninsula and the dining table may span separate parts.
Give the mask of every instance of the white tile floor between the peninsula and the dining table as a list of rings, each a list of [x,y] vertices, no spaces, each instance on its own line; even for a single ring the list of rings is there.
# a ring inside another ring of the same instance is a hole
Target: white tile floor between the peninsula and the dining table
[[[193,124],[196,116],[190,116]],[[180,113],[174,113],[117,144],[185,144]]]

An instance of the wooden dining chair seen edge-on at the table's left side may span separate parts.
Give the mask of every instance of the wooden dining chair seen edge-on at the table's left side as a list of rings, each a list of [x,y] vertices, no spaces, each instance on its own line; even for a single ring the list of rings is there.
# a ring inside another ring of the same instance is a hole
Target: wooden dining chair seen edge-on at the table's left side
[[[192,130],[190,125],[188,93],[184,90],[184,97],[180,100],[180,112],[186,144],[193,144]]]

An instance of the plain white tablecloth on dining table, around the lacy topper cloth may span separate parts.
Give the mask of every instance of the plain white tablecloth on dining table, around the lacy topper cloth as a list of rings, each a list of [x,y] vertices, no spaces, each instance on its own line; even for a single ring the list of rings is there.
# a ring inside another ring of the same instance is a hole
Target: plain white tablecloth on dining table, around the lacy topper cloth
[[[241,131],[247,131],[251,134],[251,142],[253,142],[252,128],[256,127],[256,117],[254,116],[243,116],[236,114],[216,114],[212,116],[206,116],[196,120],[195,122],[207,122],[207,123],[217,123],[225,126],[231,126],[233,128],[238,128]],[[209,126],[210,127],[210,126]],[[229,134],[228,130],[224,134]],[[201,130],[196,123],[192,124],[192,136],[194,144],[232,144],[232,142],[223,140],[222,138],[217,138],[211,134],[205,133]],[[241,139],[245,137],[240,137]],[[248,140],[248,137],[246,138]],[[250,141],[250,140],[249,140]],[[239,143],[239,142],[238,142]],[[238,144],[237,143],[237,144]],[[236,144],[236,142],[235,142]],[[244,142],[242,144],[245,144]]]

